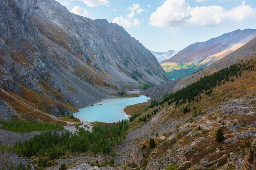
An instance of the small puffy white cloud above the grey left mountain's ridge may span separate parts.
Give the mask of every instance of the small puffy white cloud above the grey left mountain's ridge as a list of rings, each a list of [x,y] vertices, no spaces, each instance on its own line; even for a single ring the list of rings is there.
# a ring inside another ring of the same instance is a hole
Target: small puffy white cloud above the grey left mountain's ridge
[[[140,8],[139,4],[133,4],[132,7],[129,7],[127,10],[130,11],[128,15],[115,17],[112,20],[112,23],[116,23],[126,28],[130,28],[132,26],[139,27],[140,21],[135,17],[135,15],[144,12],[145,10]]]

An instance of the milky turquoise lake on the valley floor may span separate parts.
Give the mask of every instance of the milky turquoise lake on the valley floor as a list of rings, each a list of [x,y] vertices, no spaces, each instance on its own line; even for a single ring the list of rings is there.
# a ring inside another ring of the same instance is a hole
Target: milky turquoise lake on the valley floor
[[[81,108],[74,116],[82,122],[118,122],[128,118],[124,112],[126,106],[147,102],[148,99],[143,95],[134,98],[110,98],[93,106]]]

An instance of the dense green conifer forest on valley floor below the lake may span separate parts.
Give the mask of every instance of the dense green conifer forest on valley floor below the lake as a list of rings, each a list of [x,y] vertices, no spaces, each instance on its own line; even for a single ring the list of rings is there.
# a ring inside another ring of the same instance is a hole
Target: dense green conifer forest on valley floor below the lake
[[[119,144],[124,139],[128,129],[127,122],[128,120],[110,124],[96,123],[92,131],[80,128],[74,135],[70,131],[61,134],[57,131],[47,131],[34,135],[24,143],[19,142],[15,146],[15,151],[20,156],[39,155],[50,159],[56,159],[67,151],[72,153],[86,151],[110,153],[112,146]]]

